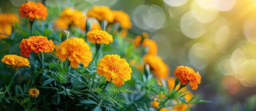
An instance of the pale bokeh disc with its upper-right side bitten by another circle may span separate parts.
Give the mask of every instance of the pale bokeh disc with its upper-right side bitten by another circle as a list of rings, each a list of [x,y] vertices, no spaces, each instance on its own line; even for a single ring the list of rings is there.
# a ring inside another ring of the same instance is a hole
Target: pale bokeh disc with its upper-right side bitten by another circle
[[[207,28],[207,25],[196,21],[193,18],[194,11],[186,12],[180,19],[180,29],[181,32],[189,38],[201,37]]]

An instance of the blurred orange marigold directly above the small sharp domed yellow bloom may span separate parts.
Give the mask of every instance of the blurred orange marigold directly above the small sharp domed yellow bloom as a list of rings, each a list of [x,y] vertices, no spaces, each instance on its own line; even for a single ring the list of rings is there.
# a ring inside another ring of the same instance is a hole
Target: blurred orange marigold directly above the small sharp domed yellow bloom
[[[107,6],[93,6],[91,10],[87,12],[87,17],[96,18],[99,21],[103,19],[112,23],[115,19],[114,13],[111,11],[110,7]]]

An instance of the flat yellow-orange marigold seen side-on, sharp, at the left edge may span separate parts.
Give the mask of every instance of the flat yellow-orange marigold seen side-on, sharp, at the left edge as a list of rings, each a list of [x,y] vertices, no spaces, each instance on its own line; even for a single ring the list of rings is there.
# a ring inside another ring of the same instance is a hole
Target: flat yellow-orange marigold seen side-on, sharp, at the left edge
[[[11,65],[13,68],[19,68],[22,66],[29,66],[27,58],[17,55],[6,55],[2,58],[1,62]]]

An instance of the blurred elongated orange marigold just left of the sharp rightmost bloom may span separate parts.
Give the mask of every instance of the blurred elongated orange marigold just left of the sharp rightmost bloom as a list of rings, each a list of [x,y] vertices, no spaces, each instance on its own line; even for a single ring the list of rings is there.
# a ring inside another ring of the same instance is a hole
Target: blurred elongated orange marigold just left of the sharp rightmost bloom
[[[159,56],[146,54],[143,59],[145,64],[149,64],[152,74],[157,79],[166,79],[169,74],[169,69]]]

